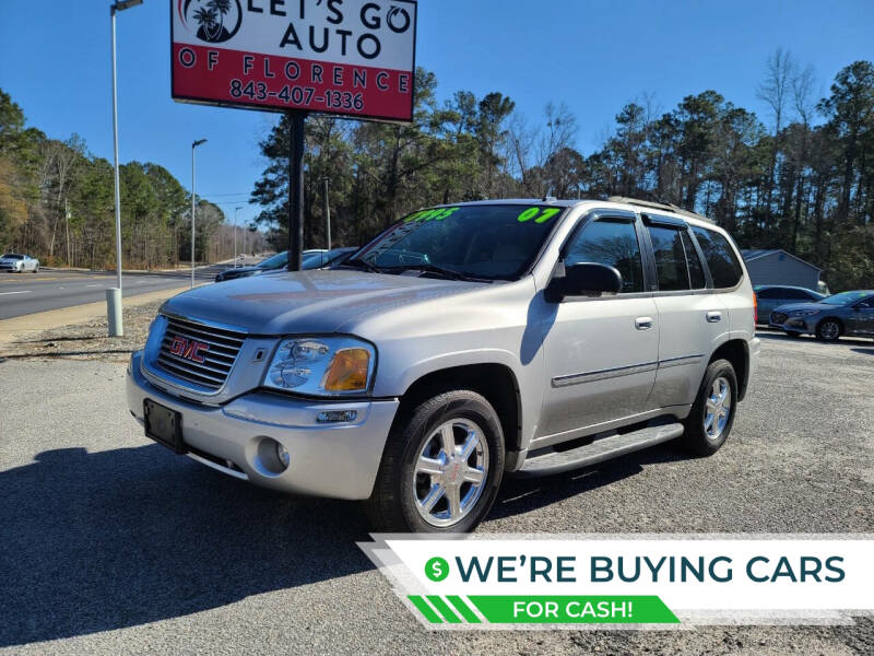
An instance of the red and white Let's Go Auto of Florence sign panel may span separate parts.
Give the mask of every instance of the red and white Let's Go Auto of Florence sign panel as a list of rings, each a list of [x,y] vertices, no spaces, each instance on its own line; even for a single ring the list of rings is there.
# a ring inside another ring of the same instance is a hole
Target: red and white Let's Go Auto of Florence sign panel
[[[413,118],[411,0],[170,0],[173,97]]]

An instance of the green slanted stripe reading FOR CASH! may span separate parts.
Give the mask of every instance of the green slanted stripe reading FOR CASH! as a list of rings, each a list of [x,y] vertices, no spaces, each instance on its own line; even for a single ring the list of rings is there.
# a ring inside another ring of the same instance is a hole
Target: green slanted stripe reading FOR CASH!
[[[493,624],[678,624],[654,595],[471,595],[468,599]]]

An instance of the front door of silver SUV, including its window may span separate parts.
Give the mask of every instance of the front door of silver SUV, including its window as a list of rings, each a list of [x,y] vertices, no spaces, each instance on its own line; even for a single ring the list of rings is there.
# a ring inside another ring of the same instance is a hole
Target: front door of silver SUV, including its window
[[[648,409],[659,349],[656,303],[646,293],[635,214],[589,215],[563,249],[566,266],[615,267],[622,292],[568,297],[544,327],[546,362],[541,444]]]

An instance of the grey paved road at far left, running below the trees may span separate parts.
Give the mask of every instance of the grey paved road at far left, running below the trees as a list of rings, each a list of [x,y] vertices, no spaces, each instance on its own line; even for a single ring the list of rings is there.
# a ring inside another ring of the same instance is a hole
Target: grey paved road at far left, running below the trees
[[[211,281],[227,265],[214,265],[196,270],[199,282]],[[185,286],[191,270],[125,273],[122,295],[135,296],[147,292]],[[103,271],[64,271],[43,269],[38,273],[0,273],[0,320],[23,315],[72,307],[104,301],[106,290],[116,286],[115,273]]]

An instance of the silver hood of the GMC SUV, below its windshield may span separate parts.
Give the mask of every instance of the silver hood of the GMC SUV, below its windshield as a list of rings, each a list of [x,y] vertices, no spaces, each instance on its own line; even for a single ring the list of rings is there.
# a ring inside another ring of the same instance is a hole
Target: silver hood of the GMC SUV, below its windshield
[[[253,335],[333,332],[365,313],[461,294],[483,285],[365,271],[276,272],[184,292],[164,303],[161,312],[216,321]]]

